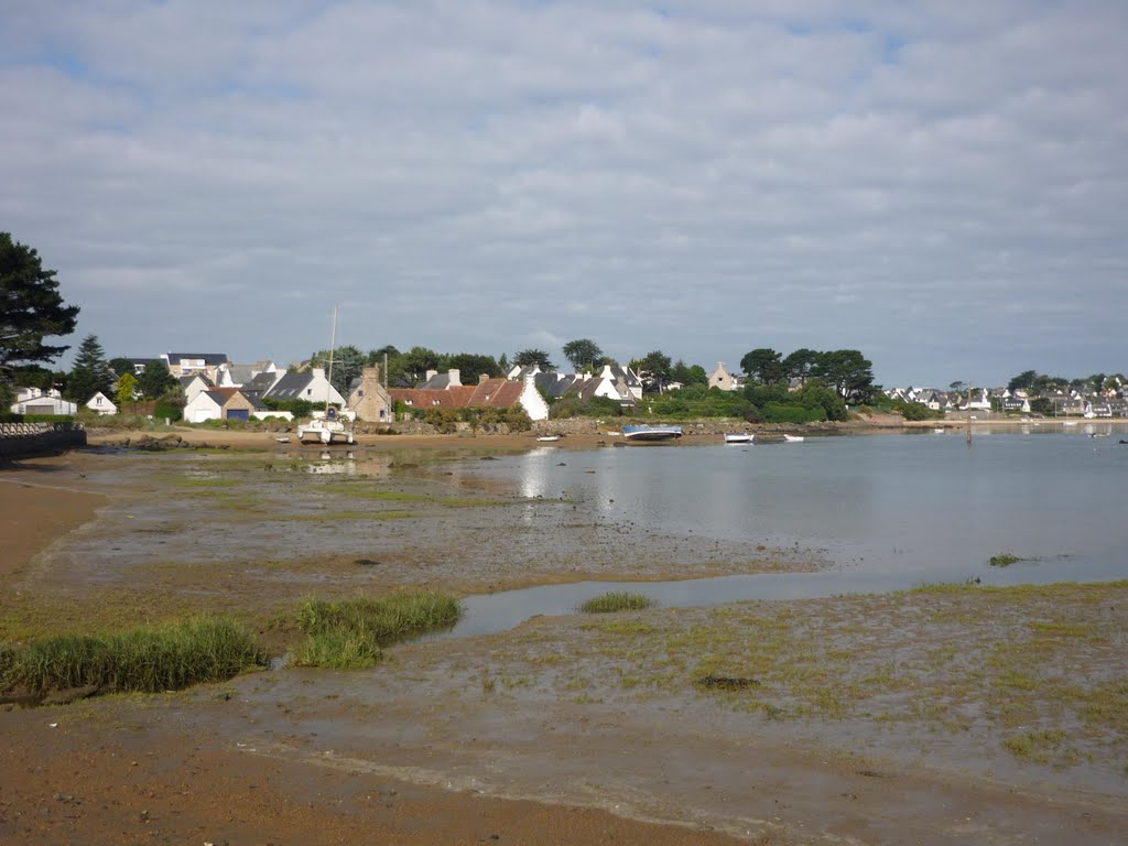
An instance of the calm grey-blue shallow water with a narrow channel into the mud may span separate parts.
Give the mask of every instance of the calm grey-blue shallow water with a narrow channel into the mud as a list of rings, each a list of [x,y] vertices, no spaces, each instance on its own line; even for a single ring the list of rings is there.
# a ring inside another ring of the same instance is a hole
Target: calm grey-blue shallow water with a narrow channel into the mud
[[[1110,438],[1091,439],[1091,432]],[[818,548],[818,573],[582,582],[465,600],[447,636],[504,631],[629,590],[663,606],[804,599],[929,582],[1036,584],[1128,578],[1125,424],[1076,431],[809,438],[803,443],[536,449],[477,468],[526,496],[567,497],[645,534]],[[1023,561],[993,567],[1012,553]]]

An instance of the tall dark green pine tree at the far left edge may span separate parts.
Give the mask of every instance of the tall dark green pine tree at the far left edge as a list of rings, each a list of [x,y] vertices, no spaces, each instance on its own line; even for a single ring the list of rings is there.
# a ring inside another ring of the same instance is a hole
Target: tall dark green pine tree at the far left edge
[[[78,306],[64,306],[55,271],[46,271],[38,253],[0,232],[0,381],[10,381],[20,362],[54,361],[69,346],[43,343],[70,335]]]

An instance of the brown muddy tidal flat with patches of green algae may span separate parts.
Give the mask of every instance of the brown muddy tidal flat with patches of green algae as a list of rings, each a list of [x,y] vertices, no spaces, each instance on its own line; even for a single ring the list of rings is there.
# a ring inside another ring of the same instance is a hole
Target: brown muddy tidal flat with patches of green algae
[[[352,481],[270,451],[9,467],[0,641],[221,610],[281,649],[310,594],[819,566],[631,546],[473,473],[527,440],[378,444]],[[9,706],[0,840],[1112,843],[1125,632],[1121,583],[960,585],[537,618],[373,670]]]

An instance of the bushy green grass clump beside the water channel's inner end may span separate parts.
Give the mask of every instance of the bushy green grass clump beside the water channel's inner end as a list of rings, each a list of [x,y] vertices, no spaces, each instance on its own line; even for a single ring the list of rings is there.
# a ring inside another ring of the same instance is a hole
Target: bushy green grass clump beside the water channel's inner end
[[[396,593],[381,599],[307,599],[298,607],[298,628],[307,637],[294,651],[301,667],[361,669],[381,658],[381,646],[456,623],[458,600],[438,591]]]

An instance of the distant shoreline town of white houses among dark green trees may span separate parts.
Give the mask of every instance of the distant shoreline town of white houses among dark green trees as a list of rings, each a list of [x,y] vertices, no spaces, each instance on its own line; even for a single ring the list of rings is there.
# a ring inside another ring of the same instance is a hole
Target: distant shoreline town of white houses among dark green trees
[[[349,346],[280,365],[268,359],[237,363],[221,352],[107,359],[97,337],[88,336],[69,372],[14,370],[8,411],[17,418],[129,414],[199,424],[292,421],[332,407],[350,420],[422,420],[440,431],[483,418],[522,429],[554,417],[616,415],[801,424],[845,420],[861,406],[906,420],[1128,417],[1121,373],[1065,379],[1031,370],[998,387],[881,388],[855,350],[804,349],[783,356],[759,349],[739,369],[717,362],[711,370],[661,352],[619,364],[587,338],[564,351],[569,372],[540,350],[520,351],[510,361],[425,347],[362,353]]]

